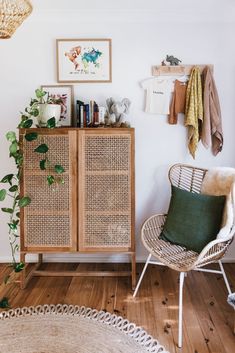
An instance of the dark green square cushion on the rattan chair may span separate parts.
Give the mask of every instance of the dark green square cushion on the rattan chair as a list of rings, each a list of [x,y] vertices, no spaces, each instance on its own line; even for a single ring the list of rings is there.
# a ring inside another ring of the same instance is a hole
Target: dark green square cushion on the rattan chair
[[[226,196],[188,192],[172,186],[172,196],[161,239],[198,253],[220,230]]]

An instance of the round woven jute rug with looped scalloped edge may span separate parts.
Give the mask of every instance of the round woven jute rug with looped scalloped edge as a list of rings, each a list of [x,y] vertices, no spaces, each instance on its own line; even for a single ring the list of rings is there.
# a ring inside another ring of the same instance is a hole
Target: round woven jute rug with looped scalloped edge
[[[0,313],[1,353],[168,353],[121,316],[73,305]]]

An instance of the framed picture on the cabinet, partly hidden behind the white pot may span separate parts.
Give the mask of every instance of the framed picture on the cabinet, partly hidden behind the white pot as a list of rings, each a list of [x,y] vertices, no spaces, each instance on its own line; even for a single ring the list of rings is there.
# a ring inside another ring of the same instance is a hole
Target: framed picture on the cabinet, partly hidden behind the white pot
[[[61,116],[58,126],[74,126],[74,94],[72,85],[41,85],[53,98],[61,98]]]

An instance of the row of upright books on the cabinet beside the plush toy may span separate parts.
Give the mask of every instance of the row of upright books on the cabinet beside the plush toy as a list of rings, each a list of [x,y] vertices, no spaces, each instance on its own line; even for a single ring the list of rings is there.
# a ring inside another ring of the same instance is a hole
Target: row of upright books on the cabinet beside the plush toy
[[[89,104],[77,100],[76,102],[76,126],[77,127],[96,127],[104,124],[106,109],[99,107],[95,101]]]

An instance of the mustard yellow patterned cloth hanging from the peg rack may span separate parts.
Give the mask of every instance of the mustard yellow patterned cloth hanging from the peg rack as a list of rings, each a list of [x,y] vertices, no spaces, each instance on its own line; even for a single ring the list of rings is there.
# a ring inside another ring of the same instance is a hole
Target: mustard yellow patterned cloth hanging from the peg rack
[[[185,126],[188,127],[188,148],[195,158],[199,141],[199,122],[203,120],[202,82],[200,69],[192,69],[186,91]]]

